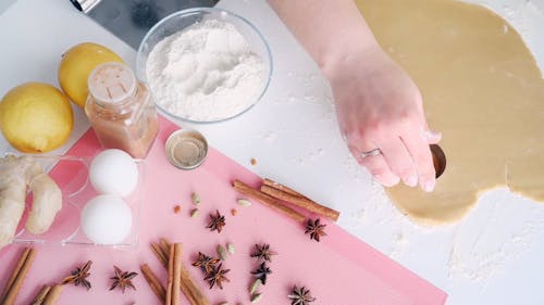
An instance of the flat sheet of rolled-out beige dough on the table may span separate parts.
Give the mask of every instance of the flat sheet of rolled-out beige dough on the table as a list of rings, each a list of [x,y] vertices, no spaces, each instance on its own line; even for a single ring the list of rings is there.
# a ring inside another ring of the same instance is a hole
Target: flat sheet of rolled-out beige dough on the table
[[[435,191],[387,189],[397,207],[434,225],[461,218],[497,187],[544,201],[544,80],[520,35],[490,10],[457,1],[357,4],[443,134],[447,166]]]

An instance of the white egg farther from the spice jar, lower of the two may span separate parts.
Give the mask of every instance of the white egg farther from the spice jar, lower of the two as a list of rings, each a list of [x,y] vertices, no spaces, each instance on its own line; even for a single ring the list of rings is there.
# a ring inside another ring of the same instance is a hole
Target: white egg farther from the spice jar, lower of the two
[[[125,201],[112,194],[89,200],[81,214],[85,236],[96,244],[120,244],[131,233],[133,215]]]

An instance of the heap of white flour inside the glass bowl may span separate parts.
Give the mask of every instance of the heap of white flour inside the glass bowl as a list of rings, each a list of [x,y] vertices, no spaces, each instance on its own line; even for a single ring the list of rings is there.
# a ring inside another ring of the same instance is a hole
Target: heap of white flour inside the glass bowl
[[[232,117],[257,102],[263,60],[231,23],[208,20],[161,40],[146,63],[156,103],[196,122]]]

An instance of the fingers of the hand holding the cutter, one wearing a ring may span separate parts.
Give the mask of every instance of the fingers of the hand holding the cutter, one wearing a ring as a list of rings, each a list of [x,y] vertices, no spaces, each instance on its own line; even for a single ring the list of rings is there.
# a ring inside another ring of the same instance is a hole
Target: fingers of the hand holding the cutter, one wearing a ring
[[[351,154],[385,187],[403,180],[424,191],[435,186],[435,170],[429,144],[440,142],[442,135],[429,129],[422,106],[408,111],[397,119],[378,119],[345,128]],[[380,149],[380,155],[361,157],[361,152]]]

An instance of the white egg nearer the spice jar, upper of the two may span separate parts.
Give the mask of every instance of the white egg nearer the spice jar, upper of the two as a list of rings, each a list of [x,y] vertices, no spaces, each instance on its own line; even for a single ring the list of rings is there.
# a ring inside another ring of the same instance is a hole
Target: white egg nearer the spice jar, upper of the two
[[[126,196],[138,183],[138,166],[122,150],[104,150],[92,158],[89,179],[95,190],[101,194]]]

